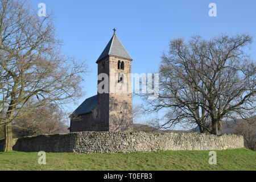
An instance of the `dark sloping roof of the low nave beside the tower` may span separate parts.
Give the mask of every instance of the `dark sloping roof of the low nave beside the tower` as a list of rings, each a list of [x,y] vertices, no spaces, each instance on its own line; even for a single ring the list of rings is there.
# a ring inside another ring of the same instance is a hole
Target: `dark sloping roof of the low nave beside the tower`
[[[81,115],[81,114],[86,114],[90,113],[96,107],[97,105],[97,95],[87,98],[82,104],[77,107],[75,111],[71,115]]]

